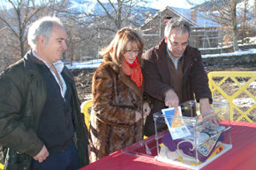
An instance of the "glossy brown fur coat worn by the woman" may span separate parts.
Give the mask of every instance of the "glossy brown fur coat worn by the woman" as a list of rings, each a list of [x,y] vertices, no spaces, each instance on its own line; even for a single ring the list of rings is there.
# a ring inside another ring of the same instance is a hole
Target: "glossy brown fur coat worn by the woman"
[[[94,72],[92,94],[90,159],[94,162],[142,139],[143,118],[135,122],[135,111],[142,113],[144,101],[143,90],[109,55]]]

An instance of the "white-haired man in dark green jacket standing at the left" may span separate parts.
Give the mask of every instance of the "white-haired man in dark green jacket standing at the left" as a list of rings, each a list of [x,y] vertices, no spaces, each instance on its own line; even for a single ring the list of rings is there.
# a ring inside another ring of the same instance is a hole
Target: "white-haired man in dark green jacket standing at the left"
[[[74,80],[61,62],[66,36],[58,18],[35,21],[27,35],[32,50],[0,75],[4,169],[73,170],[88,164],[87,128]]]

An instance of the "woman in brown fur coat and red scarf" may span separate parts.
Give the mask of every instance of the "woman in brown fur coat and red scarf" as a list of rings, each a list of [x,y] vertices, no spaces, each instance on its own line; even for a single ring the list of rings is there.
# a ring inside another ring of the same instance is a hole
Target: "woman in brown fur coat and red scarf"
[[[102,50],[103,62],[94,72],[92,87],[92,162],[142,139],[143,119],[151,110],[143,100],[143,47],[139,34],[124,27]]]

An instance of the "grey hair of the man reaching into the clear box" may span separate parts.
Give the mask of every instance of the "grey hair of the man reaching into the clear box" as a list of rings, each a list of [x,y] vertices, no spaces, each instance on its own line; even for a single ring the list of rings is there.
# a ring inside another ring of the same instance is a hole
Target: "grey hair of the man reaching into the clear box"
[[[164,28],[164,36],[169,38],[170,31],[173,28],[178,28],[178,33],[189,33],[191,32],[190,24],[184,20],[184,18],[170,18]]]

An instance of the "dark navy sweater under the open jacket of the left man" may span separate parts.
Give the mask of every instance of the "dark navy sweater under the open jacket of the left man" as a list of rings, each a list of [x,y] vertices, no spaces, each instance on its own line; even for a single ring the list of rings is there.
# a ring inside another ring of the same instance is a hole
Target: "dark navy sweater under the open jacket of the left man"
[[[66,83],[67,91],[63,98],[60,87],[49,68],[41,63],[37,66],[47,88],[47,100],[42,109],[37,136],[46,145],[49,153],[64,152],[70,148],[74,134],[71,87]]]

